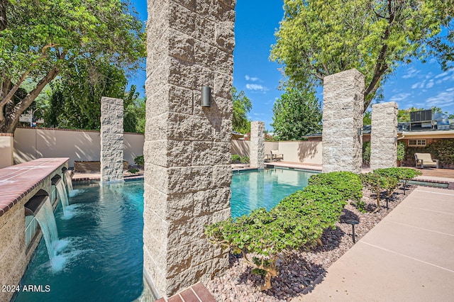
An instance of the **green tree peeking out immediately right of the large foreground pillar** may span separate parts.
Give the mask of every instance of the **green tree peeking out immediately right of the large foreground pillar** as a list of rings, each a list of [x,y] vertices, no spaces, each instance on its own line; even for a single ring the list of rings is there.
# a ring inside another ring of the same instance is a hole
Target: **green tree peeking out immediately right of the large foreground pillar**
[[[248,113],[253,108],[248,96],[243,90],[237,91],[232,87],[232,101],[233,101],[233,119],[232,129],[239,133],[250,133],[250,121],[248,120]]]

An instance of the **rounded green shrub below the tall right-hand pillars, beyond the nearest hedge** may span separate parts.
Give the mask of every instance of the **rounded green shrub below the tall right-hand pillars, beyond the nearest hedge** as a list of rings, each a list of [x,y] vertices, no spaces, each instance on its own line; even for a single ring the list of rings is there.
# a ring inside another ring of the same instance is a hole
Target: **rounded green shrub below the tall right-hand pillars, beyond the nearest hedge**
[[[346,200],[360,201],[362,183],[358,174],[352,172],[331,172],[312,175],[309,185],[328,186],[343,194]]]

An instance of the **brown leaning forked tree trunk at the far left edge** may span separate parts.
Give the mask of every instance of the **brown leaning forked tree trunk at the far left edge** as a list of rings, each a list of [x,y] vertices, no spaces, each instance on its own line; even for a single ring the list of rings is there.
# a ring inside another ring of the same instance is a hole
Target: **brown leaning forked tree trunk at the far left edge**
[[[40,79],[40,82],[36,84],[35,88],[30,91],[23,99],[21,99],[21,101],[13,106],[8,106],[8,104],[11,104],[13,96],[10,96],[9,100],[4,99],[4,97],[9,94],[9,91],[4,91],[5,86],[2,86],[2,91],[0,94],[0,133],[14,133],[14,130],[16,130],[16,127],[19,123],[21,114],[27,110],[27,108],[33,103],[33,101],[35,101],[40,92],[43,91],[44,87],[49,84],[52,79],[55,79],[55,77],[57,77],[58,73],[59,70],[57,69],[57,67],[50,69],[48,74],[46,74],[45,77],[43,77],[43,79]],[[9,89],[11,89],[11,86],[13,85],[9,85]]]

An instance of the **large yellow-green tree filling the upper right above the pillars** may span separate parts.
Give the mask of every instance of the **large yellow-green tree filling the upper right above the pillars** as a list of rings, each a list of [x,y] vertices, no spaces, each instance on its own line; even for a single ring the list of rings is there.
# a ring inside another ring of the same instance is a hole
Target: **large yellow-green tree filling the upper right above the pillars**
[[[297,86],[321,85],[329,74],[365,74],[366,111],[377,89],[400,63],[452,57],[453,0],[284,0],[284,18],[271,59]],[[433,50],[433,51],[431,51]]]

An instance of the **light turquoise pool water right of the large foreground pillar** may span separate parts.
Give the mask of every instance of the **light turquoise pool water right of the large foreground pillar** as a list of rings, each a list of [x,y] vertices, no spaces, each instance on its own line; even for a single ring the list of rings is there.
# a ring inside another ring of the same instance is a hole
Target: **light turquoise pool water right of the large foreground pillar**
[[[285,196],[307,186],[309,177],[314,174],[317,172],[290,169],[263,169],[233,174],[232,218],[248,215],[256,208],[270,210]]]

